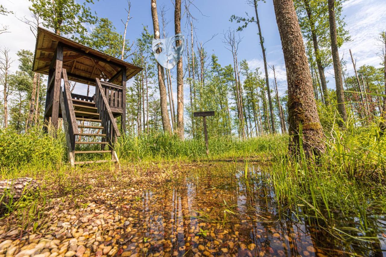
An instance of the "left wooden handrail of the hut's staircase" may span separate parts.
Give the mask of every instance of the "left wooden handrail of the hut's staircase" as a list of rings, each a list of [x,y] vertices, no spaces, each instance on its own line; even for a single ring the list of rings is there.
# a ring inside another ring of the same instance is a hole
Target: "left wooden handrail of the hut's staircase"
[[[74,106],[71,99],[71,91],[68,83],[67,71],[63,69],[63,80],[64,80],[64,90],[63,90],[63,100],[64,100],[64,109],[66,111],[66,120],[68,123],[68,135],[71,145],[71,152],[75,150],[75,139],[79,135],[78,124],[76,122]],[[62,112],[62,116],[64,113]],[[64,118],[64,117],[63,117]]]

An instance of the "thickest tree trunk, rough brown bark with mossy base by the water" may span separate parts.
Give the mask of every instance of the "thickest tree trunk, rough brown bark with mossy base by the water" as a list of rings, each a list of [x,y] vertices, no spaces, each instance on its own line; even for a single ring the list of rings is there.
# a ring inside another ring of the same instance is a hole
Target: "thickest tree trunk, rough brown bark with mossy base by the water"
[[[273,0],[288,81],[289,153],[306,158],[325,151],[303,37],[293,0]],[[302,131],[299,131],[300,125]],[[301,134],[300,134],[301,133]]]

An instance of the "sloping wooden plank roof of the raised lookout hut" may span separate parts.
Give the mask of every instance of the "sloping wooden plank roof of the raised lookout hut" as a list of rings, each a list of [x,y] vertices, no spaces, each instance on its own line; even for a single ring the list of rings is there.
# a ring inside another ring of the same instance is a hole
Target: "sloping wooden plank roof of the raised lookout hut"
[[[37,29],[33,71],[48,74],[58,42],[64,45],[63,68],[66,69],[69,80],[94,85],[95,78],[104,80],[113,78],[109,80],[110,83],[122,85],[121,68],[127,68],[127,79],[132,78],[142,70],[133,64],[39,27]]]

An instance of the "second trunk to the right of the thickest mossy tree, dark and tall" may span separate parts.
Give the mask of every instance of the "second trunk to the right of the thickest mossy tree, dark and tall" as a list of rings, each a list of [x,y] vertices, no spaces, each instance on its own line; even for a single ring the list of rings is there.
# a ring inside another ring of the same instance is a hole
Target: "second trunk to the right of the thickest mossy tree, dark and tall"
[[[345,122],[347,120],[346,107],[344,105],[344,89],[342,81],[342,65],[340,64],[338,40],[337,40],[337,27],[335,23],[335,0],[328,0],[328,17],[330,21],[330,37],[331,37],[331,52],[332,61],[334,63],[335,74],[335,86],[337,91],[338,112],[340,118]],[[340,124],[344,126],[343,123]]]

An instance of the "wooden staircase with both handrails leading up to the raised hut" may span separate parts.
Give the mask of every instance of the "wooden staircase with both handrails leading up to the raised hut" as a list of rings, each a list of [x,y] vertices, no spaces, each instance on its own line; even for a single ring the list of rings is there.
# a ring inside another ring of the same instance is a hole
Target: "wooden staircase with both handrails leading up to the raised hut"
[[[71,94],[66,69],[62,74],[64,88],[60,91],[60,106],[71,165],[119,162],[114,143],[120,132],[105,95],[109,91],[96,79],[93,97]],[[101,158],[106,154],[108,159]]]

